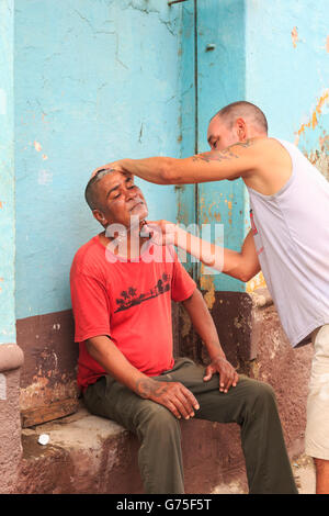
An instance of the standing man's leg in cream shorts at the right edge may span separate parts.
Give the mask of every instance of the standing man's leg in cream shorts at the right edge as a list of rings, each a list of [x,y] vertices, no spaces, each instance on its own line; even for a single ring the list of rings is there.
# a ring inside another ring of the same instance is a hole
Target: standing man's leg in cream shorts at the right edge
[[[329,494],[329,325],[313,334],[305,451],[316,467],[316,493]]]

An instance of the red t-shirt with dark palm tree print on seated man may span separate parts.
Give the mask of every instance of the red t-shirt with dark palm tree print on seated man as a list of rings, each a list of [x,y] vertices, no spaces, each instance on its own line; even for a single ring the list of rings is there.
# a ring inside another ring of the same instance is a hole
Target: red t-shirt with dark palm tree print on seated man
[[[82,391],[106,374],[84,344],[98,335],[107,335],[149,377],[173,366],[171,300],[186,300],[196,285],[172,246],[143,249],[139,261],[123,261],[97,235],[75,256],[70,287]]]

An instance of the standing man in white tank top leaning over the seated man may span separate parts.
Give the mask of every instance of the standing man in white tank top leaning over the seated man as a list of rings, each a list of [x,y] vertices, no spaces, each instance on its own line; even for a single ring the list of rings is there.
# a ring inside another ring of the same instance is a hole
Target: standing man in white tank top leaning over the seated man
[[[245,181],[251,231],[240,253],[224,250],[220,268],[243,281],[261,269],[292,346],[314,343],[306,453],[315,459],[317,493],[329,494],[329,183],[297,147],[268,137],[264,114],[249,102],[218,111],[207,139],[211,152],[189,158],[123,159],[112,166],[158,184]],[[175,226],[178,245],[180,232]],[[212,265],[195,244],[191,236],[185,248]],[[216,255],[216,246],[213,250]]]

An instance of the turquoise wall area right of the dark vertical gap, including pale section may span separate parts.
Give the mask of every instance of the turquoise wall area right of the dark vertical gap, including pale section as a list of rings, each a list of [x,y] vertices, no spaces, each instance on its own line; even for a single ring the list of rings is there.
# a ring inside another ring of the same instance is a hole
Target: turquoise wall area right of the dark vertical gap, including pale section
[[[193,2],[186,3],[192,9]],[[203,0],[197,4],[198,152],[208,149],[211,116],[229,102],[248,100],[265,112],[270,136],[294,142],[329,179],[328,1]],[[181,191],[180,201],[185,223],[193,202],[191,187]],[[213,227],[223,223],[225,246],[240,249],[249,231],[249,199],[242,181],[200,184],[197,204],[198,222]],[[204,269],[201,285],[246,290],[245,283],[224,274],[208,276]]]

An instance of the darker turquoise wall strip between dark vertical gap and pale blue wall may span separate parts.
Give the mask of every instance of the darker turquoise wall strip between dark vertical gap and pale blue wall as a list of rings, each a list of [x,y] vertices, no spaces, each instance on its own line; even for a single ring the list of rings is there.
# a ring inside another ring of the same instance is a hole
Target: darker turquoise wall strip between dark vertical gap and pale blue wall
[[[245,2],[198,2],[197,21],[197,138],[198,152],[205,152],[209,150],[206,136],[211,117],[222,106],[246,97]],[[246,234],[243,195],[242,180],[198,186],[200,223],[224,226],[224,239],[219,233],[217,245],[240,249]],[[215,290],[245,290],[242,282],[224,274],[216,273],[212,280]]]

